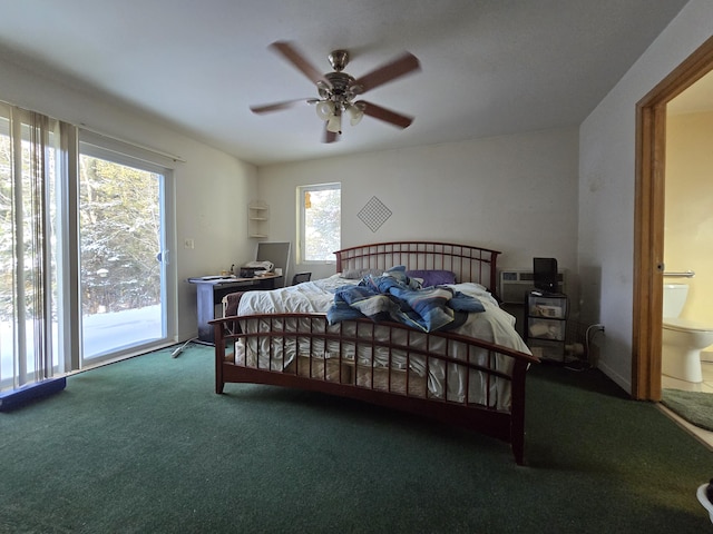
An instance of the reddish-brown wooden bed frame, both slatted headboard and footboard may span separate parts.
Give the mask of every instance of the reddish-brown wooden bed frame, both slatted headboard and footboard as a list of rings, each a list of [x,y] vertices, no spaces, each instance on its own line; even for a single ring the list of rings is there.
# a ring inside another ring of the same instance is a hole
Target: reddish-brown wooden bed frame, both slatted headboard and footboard
[[[468,245],[428,241],[383,243],[335,253],[338,273],[350,269],[387,270],[395,265],[406,265],[410,270],[451,270],[459,283],[479,283],[494,295],[498,254]],[[226,383],[252,383],[351,397],[465,426],[502,439],[511,445],[515,461],[520,465],[524,463],[525,378],[528,366],[539,362],[535,356],[451,332],[421,333],[398,323],[375,324],[369,319],[358,319],[330,326],[322,314],[232,316],[211,323],[215,328],[215,390],[218,394],[223,393]],[[258,324],[262,325],[261,329],[255,327]],[[268,328],[265,328],[266,324]],[[265,339],[282,344],[282,347],[290,344],[296,346],[300,356],[277,370],[272,370],[272,348],[268,367],[257,368],[236,358],[235,342],[246,344]],[[338,346],[338,354],[330,350],[329,358],[312,356],[313,347],[325,347],[326,344],[332,348]],[[455,345],[459,354],[467,355],[463,359],[448,355]],[[388,352],[389,365],[375,367],[355,364],[356,358],[343,357],[343,346],[368,347],[370,350],[379,347],[379,350]],[[487,350],[487,363],[471,363],[471,352],[484,354],[482,349]],[[424,360],[426,377],[392,369],[392,354],[406,355],[407,369],[410,368],[409,358]],[[512,359],[510,374],[498,370],[496,362],[502,356]],[[479,382],[484,382],[485,377],[488,384],[485,405],[469,402],[468,395],[462,402],[429,396],[427,378],[430,362],[440,362],[446,368],[458,366],[468,369],[466,377],[472,375],[471,370],[477,372]],[[489,387],[492,380],[509,382],[509,411],[489,407],[495,404],[491,404]]]

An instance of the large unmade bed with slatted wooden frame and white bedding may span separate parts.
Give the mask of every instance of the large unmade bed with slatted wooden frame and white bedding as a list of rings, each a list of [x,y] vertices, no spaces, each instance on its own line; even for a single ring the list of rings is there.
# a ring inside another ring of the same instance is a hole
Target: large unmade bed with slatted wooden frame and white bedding
[[[510,444],[521,465],[526,375],[539,360],[495,298],[500,253],[399,241],[334,254],[336,274],[329,278],[226,297],[228,316],[211,322],[216,393],[227,383],[253,383],[351,397],[496,437]],[[451,323],[426,324],[401,320],[399,306],[387,320],[335,313],[335,303],[344,306],[351,293],[392,277],[397,288],[409,284],[409,295],[445,294],[450,297],[441,301],[453,309],[453,301],[480,308],[447,310]]]

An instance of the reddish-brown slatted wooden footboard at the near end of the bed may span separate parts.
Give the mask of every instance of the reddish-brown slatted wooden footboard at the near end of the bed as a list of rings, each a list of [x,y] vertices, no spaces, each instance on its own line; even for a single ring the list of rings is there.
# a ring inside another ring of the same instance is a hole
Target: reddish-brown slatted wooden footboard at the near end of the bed
[[[351,397],[461,425],[511,444],[524,463],[525,378],[538,358],[453,333],[324,315],[225,317],[215,390],[256,383]]]

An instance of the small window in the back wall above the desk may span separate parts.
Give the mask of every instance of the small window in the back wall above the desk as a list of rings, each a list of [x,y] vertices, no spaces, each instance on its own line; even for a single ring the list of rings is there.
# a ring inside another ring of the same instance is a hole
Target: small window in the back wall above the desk
[[[341,248],[341,184],[297,187],[297,263],[333,263]]]

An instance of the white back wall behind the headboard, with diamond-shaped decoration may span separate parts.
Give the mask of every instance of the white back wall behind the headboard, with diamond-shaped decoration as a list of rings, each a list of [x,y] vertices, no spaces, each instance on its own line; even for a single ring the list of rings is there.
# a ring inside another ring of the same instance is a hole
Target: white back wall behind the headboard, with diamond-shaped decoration
[[[257,187],[271,207],[271,240],[295,241],[297,186],[340,181],[343,247],[427,238],[501,250],[505,268],[551,256],[574,270],[577,151],[576,128],[536,131],[265,166]],[[373,196],[393,214],[375,233],[358,217]],[[296,268],[334,273],[333,265]]]

